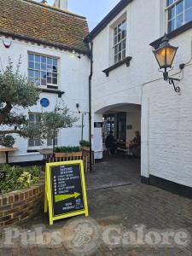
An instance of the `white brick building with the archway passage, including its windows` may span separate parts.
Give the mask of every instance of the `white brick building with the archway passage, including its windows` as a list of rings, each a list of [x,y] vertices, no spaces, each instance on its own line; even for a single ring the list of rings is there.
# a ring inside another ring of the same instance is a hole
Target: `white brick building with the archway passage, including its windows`
[[[170,75],[181,79],[176,83],[180,93],[163,80],[149,45],[158,47],[165,32],[170,44],[179,46]],[[143,183],[192,195],[192,1],[122,0],[88,38],[93,44],[96,159],[102,159],[97,122],[104,115],[110,119],[112,113],[124,113],[118,129],[125,132],[119,138],[129,141],[134,131],[142,133]]]

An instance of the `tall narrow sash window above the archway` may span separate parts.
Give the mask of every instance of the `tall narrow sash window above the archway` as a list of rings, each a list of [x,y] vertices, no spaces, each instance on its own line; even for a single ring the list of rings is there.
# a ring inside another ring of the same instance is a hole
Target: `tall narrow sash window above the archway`
[[[126,20],[119,23],[113,30],[113,62],[125,59],[126,55]]]

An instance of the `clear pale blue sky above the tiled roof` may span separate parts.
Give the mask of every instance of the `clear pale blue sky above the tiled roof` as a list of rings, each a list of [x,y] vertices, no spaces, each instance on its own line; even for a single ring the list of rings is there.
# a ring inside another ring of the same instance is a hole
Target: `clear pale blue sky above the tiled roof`
[[[41,0],[36,0],[41,2]],[[47,0],[52,5],[54,0]],[[87,18],[90,31],[106,16],[119,0],[68,0],[68,10]]]

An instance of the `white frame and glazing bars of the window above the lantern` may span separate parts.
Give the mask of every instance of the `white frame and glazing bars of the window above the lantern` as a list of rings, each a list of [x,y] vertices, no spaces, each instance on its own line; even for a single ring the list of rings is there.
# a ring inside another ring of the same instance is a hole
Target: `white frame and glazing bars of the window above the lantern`
[[[177,17],[178,16],[183,15],[183,25],[189,22],[189,21],[185,21],[185,12],[188,11],[189,9],[192,9],[192,7],[189,7],[188,9],[184,9],[184,0],[173,0],[173,1],[174,1],[173,3],[171,3],[170,5],[167,6],[167,0],[166,0],[166,32],[169,32],[168,31],[168,29],[169,29],[168,23],[170,21],[168,19],[168,11],[169,11],[169,9],[172,9],[175,6],[174,18],[171,19],[171,20],[174,20],[174,29],[172,31],[170,31],[170,32],[173,32],[178,27],[181,27],[181,26],[177,26]],[[176,6],[177,6],[177,3],[180,3],[180,2],[183,2],[183,12],[177,15],[177,8],[176,8]],[[191,19],[191,21],[192,21],[192,19]]]

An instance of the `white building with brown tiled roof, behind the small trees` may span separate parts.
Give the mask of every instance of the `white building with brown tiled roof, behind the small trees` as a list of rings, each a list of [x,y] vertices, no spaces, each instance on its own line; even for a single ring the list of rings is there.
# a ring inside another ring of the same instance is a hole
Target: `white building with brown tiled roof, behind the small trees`
[[[84,17],[64,8],[67,0],[56,1],[55,7],[29,0],[1,0],[0,60],[3,68],[9,57],[17,63],[21,55],[20,72],[37,79],[42,89],[40,100],[49,100],[47,108],[39,100],[37,106],[21,113],[35,121],[38,113],[53,110],[56,102],[62,101],[79,118],[73,128],[61,130],[56,137],[58,146],[76,146],[82,137],[82,126],[84,139],[89,140],[90,59],[89,47],[84,43],[88,26]],[[40,145],[38,140],[16,137],[15,147],[19,150],[9,154],[9,162],[42,160],[38,150],[52,148],[51,144],[46,141]],[[0,154],[0,160],[5,161],[4,154]]]

